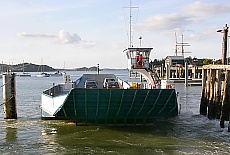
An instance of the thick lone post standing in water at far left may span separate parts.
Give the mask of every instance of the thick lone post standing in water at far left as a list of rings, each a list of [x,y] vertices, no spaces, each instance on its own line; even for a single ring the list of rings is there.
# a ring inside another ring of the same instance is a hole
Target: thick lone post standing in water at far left
[[[15,74],[3,74],[4,119],[17,119]]]

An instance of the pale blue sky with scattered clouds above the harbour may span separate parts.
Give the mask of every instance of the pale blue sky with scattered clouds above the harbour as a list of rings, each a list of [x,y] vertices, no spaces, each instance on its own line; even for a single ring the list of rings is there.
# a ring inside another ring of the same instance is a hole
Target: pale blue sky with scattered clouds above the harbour
[[[54,68],[127,68],[129,0],[0,0],[0,61]],[[220,59],[229,0],[132,0],[132,44],[150,59]],[[142,37],[140,40],[139,38]],[[181,49],[179,47],[178,51]],[[181,55],[181,53],[178,53]]]

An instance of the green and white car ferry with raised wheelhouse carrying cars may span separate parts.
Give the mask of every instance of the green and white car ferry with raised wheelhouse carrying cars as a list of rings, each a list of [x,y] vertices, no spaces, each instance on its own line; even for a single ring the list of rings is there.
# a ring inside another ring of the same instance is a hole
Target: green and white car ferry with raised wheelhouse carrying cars
[[[42,119],[63,119],[77,125],[148,125],[155,119],[177,116],[179,105],[172,83],[157,78],[149,67],[152,48],[128,48],[128,68],[145,82],[129,82],[114,74],[83,74],[43,91]],[[141,56],[141,57],[140,57]],[[110,80],[108,80],[110,79]],[[93,87],[87,82],[94,81]],[[112,87],[109,82],[116,83]],[[109,87],[109,85],[111,87]]]

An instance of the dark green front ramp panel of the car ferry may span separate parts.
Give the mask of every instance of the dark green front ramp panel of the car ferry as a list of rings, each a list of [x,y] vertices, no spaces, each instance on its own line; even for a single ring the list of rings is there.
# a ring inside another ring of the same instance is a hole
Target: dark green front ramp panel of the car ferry
[[[83,125],[146,125],[178,115],[175,89],[71,90],[56,118]]]

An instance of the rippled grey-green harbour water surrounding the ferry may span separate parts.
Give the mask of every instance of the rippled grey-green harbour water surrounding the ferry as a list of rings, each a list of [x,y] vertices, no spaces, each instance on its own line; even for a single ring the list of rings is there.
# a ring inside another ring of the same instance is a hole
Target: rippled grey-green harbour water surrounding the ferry
[[[105,71],[106,72],[106,71]],[[107,71],[124,78],[124,70]],[[106,73],[107,73],[106,72]],[[70,72],[75,80],[83,72]],[[230,154],[230,133],[219,120],[199,115],[201,86],[176,84],[180,115],[146,127],[76,126],[41,120],[41,92],[62,77],[16,77],[17,120],[4,120],[0,107],[0,154]],[[3,102],[2,89],[0,101]],[[225,124],[227,126],[227,122]]]

